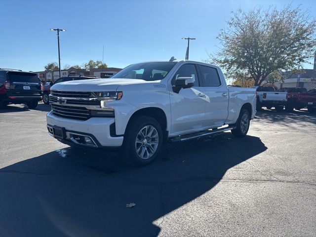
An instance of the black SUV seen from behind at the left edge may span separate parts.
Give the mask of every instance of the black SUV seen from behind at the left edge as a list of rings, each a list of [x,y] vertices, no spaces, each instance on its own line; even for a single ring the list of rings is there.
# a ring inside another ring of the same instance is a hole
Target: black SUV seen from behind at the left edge
[[[0,109],[8,104],[26,104],[35,109],[42,84],[36,73],[0,68]]]

